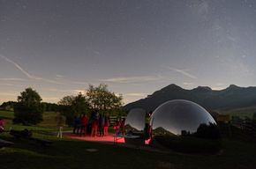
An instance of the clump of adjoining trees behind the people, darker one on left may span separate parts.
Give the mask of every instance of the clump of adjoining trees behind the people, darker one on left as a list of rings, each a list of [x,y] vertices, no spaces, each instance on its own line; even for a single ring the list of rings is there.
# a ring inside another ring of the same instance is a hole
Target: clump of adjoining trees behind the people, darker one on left
[[[78,96],[65,96],[58,102],[60,113],[66,117],[66,123],[72,126],[72,121],[75,116],[80,116],[84,113],[88,117],[91,116],[91,111],[97,110],[100,113],[107,114],[125,114],[122,112],[123,96],[118,96],[114,92],[109,92],[107,84],[100,84],[99,87],[89,84],[89,89],[86,91],[86,96],[79,92]]]

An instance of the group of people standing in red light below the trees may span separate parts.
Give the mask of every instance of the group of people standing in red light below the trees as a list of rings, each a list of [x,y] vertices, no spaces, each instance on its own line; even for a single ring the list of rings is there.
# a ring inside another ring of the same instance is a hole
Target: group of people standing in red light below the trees
[[[91,136],[97,136],[97,131],[99,129],[100,136],[108,136],[108,129],[109,129],[109,119],[107,117],[104,117],[102,114],[100,114],[99,119],[97,118],[97,114],[92,114],[91,119]],[[73,120],[73,135],[79,135],[79,136],[87,136],[87,114],[83,114],[83,116],[78,117],[75,116]],[[115,122],[114,129],[116,129],[116,133],[119,132],[120,127],[122,128],[122,133],[124,135],[124,123],[125,119],[120,122],[118,119]],[[80,132],[79,132],[80,129]],[[77,130],[77,132],[76,132]]]

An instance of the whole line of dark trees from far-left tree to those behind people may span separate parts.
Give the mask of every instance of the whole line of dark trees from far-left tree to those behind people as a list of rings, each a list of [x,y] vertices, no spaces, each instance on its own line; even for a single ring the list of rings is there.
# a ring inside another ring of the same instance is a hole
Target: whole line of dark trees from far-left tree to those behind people
[[[87,114],[103,114],[105,117],[111,115],[126,116],[127,112],[123,110],[123,95],[116,94],[108,90],[107,84],[100,84],[97,87],[89,84],[89,88],[77,96],[64,96],[57,104],[42,102],[41,96],[32,87],[26,88],[20,92],[17,102],[4,102],[1,107],[5,110],[14,111],[14,123],[23,125],[35,125],[40,123],[43,112],[59,112],[66,117],[66,124],[72,126],[72,121],[76,116]],[[12,108],[11,108],[12,107]]]

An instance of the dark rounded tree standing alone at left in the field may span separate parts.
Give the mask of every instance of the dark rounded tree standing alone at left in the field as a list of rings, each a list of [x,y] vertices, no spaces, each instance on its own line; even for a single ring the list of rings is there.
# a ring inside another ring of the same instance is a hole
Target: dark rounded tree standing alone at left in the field
[[[18,103],[14,106],[14,123],[23,125],[35,125],[42,121],[42,114],[45,111],[45,104],[41,102],[41,96],[31,87],[25,92],[20,92]]]

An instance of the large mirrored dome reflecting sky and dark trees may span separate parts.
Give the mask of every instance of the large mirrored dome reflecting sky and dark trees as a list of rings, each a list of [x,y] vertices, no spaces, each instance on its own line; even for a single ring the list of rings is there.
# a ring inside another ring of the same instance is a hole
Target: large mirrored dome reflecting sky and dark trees
[[[163,103],[150,117],[151,145],[164,150],[215,154],[221,135],[214,118],[200,105],[184,99]]]

